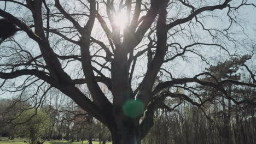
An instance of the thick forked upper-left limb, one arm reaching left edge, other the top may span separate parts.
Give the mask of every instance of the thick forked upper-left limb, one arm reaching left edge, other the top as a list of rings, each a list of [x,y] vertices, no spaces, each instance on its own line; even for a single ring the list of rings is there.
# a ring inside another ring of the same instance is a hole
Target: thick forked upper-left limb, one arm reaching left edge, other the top
[[[57,57],[54,55],[54,52],[50,47],[49,41],[45,39],[41,10],[42,2],[36,1],[33,5],[28,4],[28,7],[35,8],[32,10],[35,32],[33,32],[32,29],[28,27],[24,22],[17,19],[15,16],[3,11],[2,9],[0,9],[0,16],[5,17],[5,19],[7,19],[10,22],[14,22],[15,25],[22,29],[22,31],[25,31],[27,33],[28,37],[30,37],[38,43],[40,50],[42,52],[42,56],[44,57],[45,63],[48,66],[48,70],[50,71],[54,79],[70,82],[70,77],[61,68],[61,64],[58,61]]]

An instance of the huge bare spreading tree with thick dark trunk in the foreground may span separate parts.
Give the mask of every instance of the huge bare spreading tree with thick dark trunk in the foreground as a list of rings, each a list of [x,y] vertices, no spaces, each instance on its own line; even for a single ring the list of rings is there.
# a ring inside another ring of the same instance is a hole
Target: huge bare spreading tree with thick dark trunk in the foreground
[[[185,63],[207,67],[211,57],[222,58],[214,55],[219,51],[224,57],[250,52],[252,58],[255,44],[238,12],[254,10],[253,2],[0,1],[0,16],[19,27],[0,47],[2,91],[34,88],[37,95],[45,95],[48,91],[41,89],[45,85],[59,89],[106,125],[113,143],[141,143],[153,126],[155,109],[172,109],[162,103],[166,97],[199,107],[211,101],[197,95],[196,85],[223,93],[226,83],[256,87],[255,73],[247,66],[252,59],[241,64],[251,76],[248,82],[218,80],[205,71],[179,75]],[[116,21],[122,11],[123,29]],[[205,76],[216,81],[199,78]],[[108,94],[99,82],[108,87]],[[83,92],[84,84],[92,100]],[[175,93],[173,87],[185,92]],[[224,97],[237,105],[245,103]]]

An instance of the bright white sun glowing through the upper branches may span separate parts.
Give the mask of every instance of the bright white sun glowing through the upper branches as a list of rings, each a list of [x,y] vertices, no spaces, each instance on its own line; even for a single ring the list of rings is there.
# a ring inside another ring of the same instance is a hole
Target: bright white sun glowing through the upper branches
[[[123,32],[125,26],[127,25],[127,16],[124,11],[121,11],[114,17],[115,26],[120,27],[120,31]]]

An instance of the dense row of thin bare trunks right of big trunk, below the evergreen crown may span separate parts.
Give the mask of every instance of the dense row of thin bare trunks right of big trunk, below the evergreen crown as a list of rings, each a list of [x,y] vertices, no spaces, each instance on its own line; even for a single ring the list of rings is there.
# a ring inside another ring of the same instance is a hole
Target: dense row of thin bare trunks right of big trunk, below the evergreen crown
[[[172,113],[159,111],[142,143],[255,143],[255,107],[232,110],[228,122],[227,113],[217,107],[204,110],[184,104]]]

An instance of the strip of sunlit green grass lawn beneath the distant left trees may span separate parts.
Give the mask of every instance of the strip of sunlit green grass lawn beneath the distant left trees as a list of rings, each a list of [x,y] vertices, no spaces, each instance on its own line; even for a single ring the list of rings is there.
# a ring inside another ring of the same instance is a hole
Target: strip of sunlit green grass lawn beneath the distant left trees
[[[25,143],[24,140],[26,139],[14,139],[8,140],[8,137],[1,137],[0,144],[28,144]],[[88,143],[88,141],[83,141],[84,144]],[[93,144],[98,144],[98,141],[93,141]],[[112,142],[106,142],[106,144],[111,144]],[[53,140],[53,141],[45,141],[44,144],[82,144],[82,141],[79,142],[69,142],[65,140]]]

